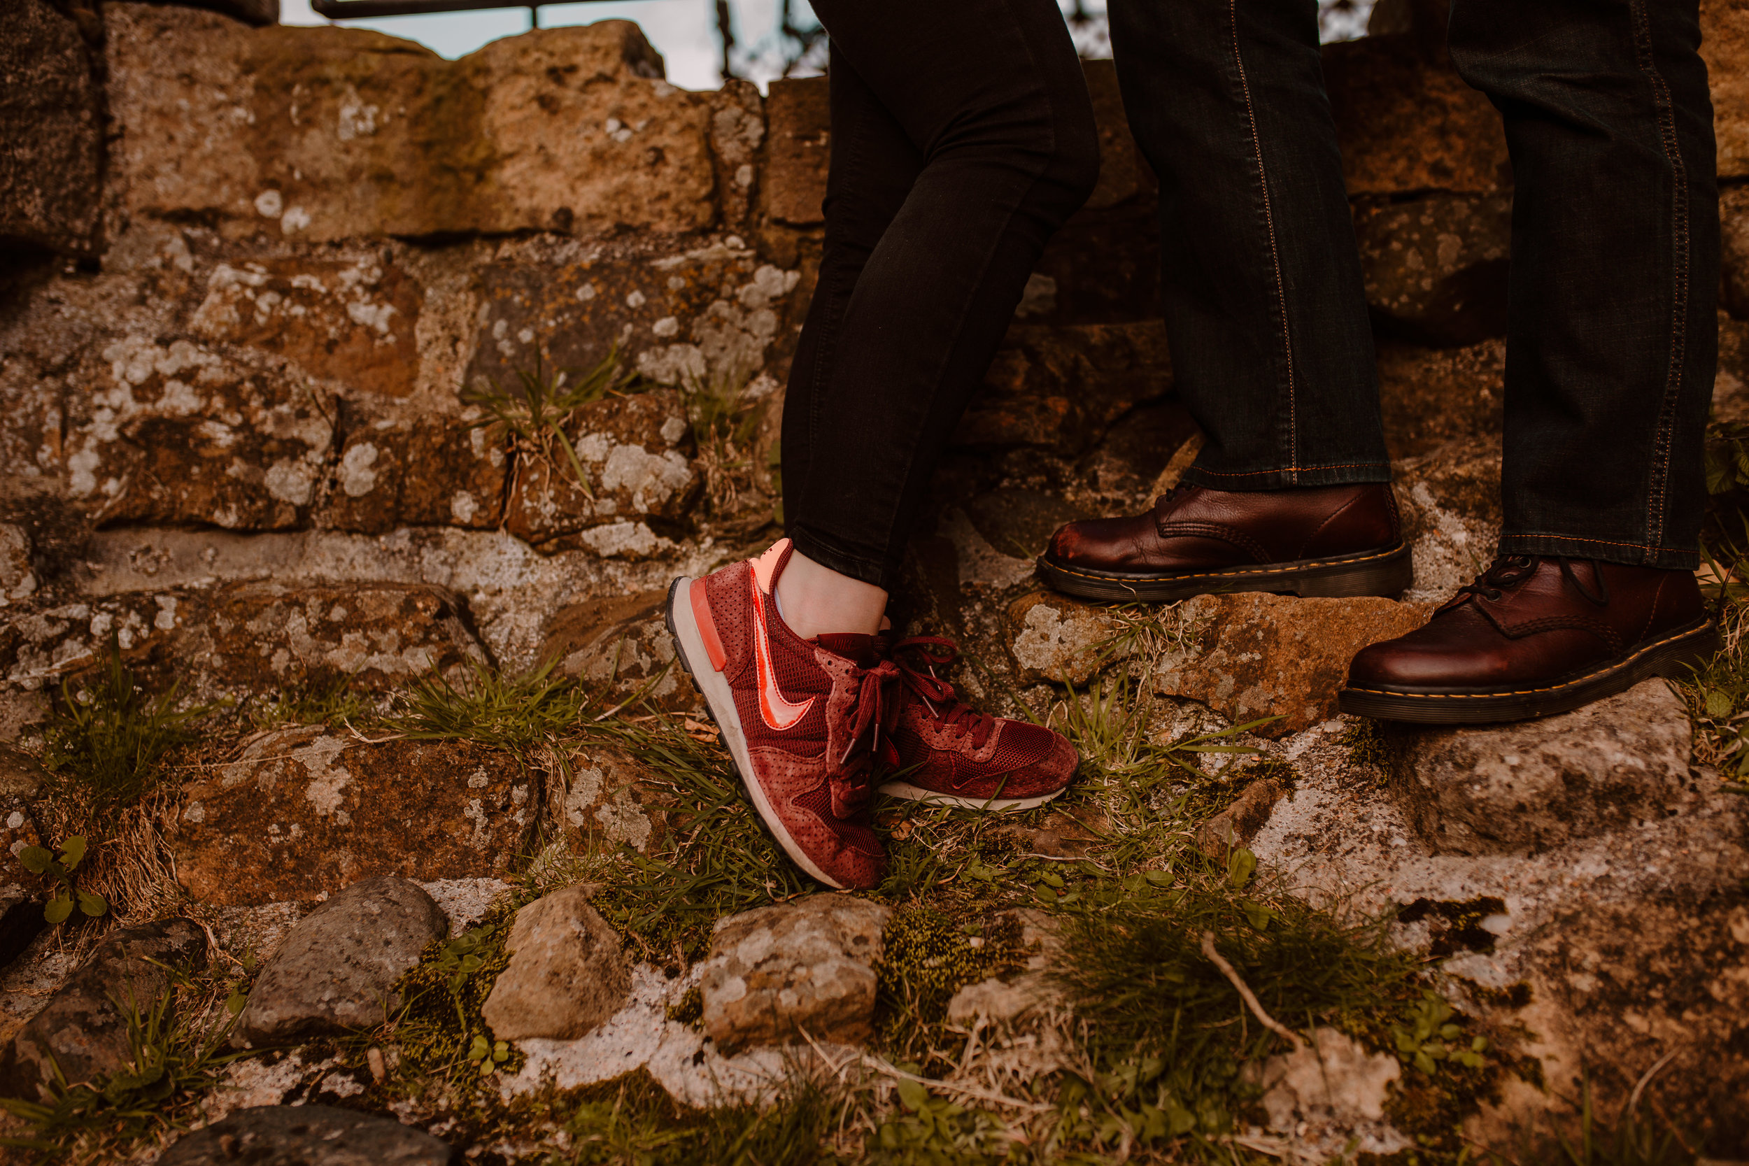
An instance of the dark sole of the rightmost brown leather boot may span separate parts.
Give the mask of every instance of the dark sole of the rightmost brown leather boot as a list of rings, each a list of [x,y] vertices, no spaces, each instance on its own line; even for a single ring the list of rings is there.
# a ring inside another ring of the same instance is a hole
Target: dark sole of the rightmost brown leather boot
[[[1530,720],[1571,713],[1653,677],[1683,677],[1719,650],[1719,629],[1711,621],[1690,624],[1663,640],[1583,677],[1539,689],[1343,689],[1336,704],[1345,713],[1375,720],[1424,725],[1473,725]]]

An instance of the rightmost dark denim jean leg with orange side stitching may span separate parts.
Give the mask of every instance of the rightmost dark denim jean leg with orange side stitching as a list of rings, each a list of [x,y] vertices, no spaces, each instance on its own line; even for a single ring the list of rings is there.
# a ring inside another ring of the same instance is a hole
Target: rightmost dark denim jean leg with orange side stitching
[[[1513,156],[1501,554],[1698,565],[1719,192],[1697,0],[1457,0]]]

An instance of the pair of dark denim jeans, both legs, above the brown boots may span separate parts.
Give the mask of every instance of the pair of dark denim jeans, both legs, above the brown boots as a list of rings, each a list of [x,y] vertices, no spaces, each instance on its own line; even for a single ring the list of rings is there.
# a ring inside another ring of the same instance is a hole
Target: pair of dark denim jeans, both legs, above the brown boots
[[[1313,0],[1111,0],[1191,481],[1389,481]],[[1515,173],[1501,554],[1693,568],[1718,348],[1697,0],[1453,0]],[[1411,143],[1404,142],[1404,149]]]

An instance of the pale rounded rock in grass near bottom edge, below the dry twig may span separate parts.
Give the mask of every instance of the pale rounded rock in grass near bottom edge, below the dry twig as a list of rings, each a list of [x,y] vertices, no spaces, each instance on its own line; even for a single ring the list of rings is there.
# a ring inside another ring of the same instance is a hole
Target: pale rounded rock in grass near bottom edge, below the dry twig
[[[1270,1128],[1303,1129],[1376,1122],[1385,1115],[1390,1082],[1403,1075],[1397,1058],[1371,1052],[1336,1028],[1312,1030],[1312,1040],[1263,1063],[1258,1086]]]

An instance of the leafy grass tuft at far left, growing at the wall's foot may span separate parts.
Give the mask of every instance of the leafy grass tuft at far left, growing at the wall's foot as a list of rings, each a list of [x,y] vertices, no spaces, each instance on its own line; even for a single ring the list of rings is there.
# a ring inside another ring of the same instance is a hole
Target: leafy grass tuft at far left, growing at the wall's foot
[[[140,687],[112,635],[94,684],[77,692],[72,680],[61,684],[44,766],[73,778],[98,808],[136,801],[159,780],[164,755],[196,739],[189,725],[212,711],[177,704],[175,685],[159,696]]]

